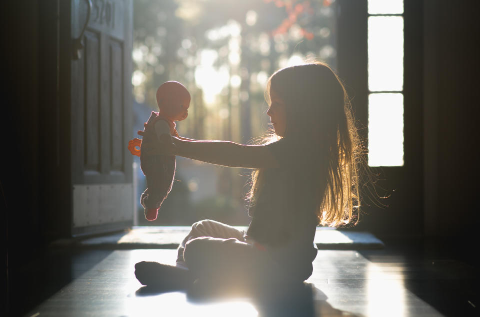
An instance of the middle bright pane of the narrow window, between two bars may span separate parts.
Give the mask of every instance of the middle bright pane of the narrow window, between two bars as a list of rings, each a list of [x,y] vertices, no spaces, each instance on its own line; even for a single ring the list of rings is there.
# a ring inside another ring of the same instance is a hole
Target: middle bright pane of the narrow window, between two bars
[[[368,18],[368,89],[403,90],[403,18]]]

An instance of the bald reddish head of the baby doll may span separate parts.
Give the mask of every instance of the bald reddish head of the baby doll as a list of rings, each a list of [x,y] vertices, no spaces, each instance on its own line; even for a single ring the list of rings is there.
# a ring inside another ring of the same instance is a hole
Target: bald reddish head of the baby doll
[[[165,82],[156,91],[158,114],[171,121],[181,121],[188,116],[190,93],[178,82]]]

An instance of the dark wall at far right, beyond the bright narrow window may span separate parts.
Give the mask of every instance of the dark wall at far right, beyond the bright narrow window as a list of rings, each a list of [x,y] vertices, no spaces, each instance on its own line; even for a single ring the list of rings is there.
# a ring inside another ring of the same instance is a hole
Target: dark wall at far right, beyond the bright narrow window
[[[478,9],[424,2],[425,233],[472,235],[477,219]]]

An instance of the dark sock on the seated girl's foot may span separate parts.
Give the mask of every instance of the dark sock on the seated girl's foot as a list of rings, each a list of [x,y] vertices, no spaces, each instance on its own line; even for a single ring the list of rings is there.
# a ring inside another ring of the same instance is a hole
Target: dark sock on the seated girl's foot
[[[135,276],[142,285],[162,289],[185,289],[194,280],[187,268],[147,261],[135,264]]]

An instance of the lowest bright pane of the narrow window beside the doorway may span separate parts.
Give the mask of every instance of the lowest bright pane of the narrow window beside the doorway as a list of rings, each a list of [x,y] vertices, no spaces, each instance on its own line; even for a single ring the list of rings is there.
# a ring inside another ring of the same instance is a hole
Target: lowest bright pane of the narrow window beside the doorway
[[[403,166],[403,95],[368,96],[368,165]]]

